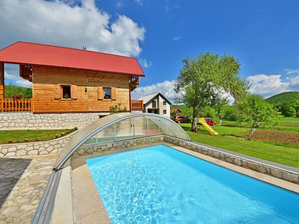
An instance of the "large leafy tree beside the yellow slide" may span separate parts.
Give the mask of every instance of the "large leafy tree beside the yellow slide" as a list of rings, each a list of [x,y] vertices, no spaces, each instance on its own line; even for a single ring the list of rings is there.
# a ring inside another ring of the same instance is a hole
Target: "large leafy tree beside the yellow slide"
[[[233,56],[201,53],[182,60],[183,67],[173,81],[174,102],[192,108],[192,129],[200,109],[211,105],[219,92],[236,101],[247,94],[248,82],[239,75],[240,63]]]

